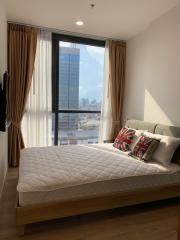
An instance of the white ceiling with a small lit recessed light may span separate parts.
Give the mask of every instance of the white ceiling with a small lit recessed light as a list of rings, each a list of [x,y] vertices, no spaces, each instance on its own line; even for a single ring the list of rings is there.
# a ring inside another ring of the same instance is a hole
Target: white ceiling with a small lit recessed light
[[[180,0],[5,0],[9,21],[128,40]],[[92,9],[90,4],[94,3]],[[75,25],[83,20],[84,26]]]

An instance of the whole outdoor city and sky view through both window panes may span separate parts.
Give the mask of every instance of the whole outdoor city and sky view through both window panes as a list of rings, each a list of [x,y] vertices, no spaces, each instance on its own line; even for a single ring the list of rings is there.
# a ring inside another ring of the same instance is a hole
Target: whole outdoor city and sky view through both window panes
[[[60,41],[59,50],[59,109],[100,111],[104,48]],[[97,143],[99,122],[97,112],[61,112],[59,144]]]

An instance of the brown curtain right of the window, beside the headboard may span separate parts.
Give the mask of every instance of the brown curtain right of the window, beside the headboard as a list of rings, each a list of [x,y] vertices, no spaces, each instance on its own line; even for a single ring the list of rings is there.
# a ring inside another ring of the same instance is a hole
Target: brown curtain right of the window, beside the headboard
[[[110,139],[112,140],[116,138],[122,127],[125,64],[126,44],[124,42],[109,41],[109,93],[112,108]]]

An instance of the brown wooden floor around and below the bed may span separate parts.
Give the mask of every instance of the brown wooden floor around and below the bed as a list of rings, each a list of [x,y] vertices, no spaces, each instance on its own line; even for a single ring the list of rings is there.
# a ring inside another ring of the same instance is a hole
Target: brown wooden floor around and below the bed
[[[177,240],[177,200],[32,224],[18,237],[16,184],[17,170],[11,169],[0,206],[0,240]]]

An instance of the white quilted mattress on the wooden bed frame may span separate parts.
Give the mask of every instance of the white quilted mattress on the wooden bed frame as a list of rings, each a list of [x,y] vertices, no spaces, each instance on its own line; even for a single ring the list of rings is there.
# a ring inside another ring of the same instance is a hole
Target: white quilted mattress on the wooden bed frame
[[[180,183],[180,166],[144,163],[112,144],[21,151],[21,206]]]

